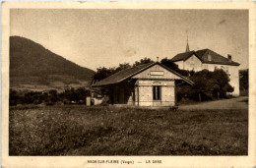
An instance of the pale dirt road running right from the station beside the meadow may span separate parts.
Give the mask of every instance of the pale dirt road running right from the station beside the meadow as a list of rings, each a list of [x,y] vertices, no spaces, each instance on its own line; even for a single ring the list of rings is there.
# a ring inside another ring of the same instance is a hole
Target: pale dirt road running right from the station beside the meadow
[[[216,100],[209,102],[202,102],[191,105],[180,105],[180,110],[194,110],[194,109],[248,109],[247,96],[240,96],[237,98]]]

